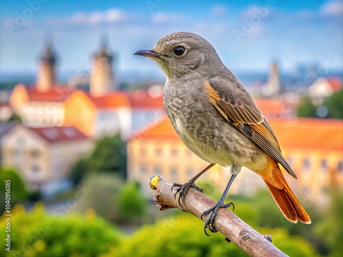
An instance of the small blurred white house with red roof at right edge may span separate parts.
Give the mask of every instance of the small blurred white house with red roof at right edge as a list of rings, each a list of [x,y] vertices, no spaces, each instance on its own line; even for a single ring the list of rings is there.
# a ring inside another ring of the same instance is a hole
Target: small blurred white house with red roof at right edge
[[[320,105],[326,97],[342,89],[342,81],[339,77],[319,77],[309,88],[307,94],[314,104]]]

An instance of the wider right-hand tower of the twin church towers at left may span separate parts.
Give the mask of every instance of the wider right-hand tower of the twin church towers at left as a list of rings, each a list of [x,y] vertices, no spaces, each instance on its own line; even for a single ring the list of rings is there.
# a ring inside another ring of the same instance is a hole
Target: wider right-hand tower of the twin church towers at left
[[[89,77],[89,91],[94,97],[106,95],[106,93],[117,89],[113,77],[112,61],[113,55],[103,42],[93,57]]]

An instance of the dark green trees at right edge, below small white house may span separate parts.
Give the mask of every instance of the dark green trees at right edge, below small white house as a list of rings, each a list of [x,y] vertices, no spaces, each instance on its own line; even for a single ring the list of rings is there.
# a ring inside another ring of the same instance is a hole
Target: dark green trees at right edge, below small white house
[[[327,108],[327,119],[343,119],[343,90],[334,92],[330,97],[324,99],[322,104]],[[298,105],[298,117],[314,117],[317,118],[316,110],[318,106],[312,103],[309,97],[305,97]]]

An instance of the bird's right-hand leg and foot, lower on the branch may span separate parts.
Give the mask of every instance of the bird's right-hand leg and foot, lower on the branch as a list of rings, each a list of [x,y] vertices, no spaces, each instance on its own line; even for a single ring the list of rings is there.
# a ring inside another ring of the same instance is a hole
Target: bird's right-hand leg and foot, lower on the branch
[[[230,186],[233,183],[233,180],[235,180],[235,178],[236,178],[236,174],[233,173],[231,175],[230,180],[228,181],[228,184],[226,185],[226,188],[224,190],[222,197],[220,197],[220,200],[217,202],[217,204],[215,204],[215,206],[213,206],[212,208],[209,208],[209,210],[205,210],[204,212],[202,212],[201,219],[205,215],[208,215],[209,213],[212,212],[211,215],[209,216],[209,218],[204,223],[204,232],[205,232],[206,236],[209,236],[209,234],[207,234],[207,232],[206,232],[206,229],[209,229],[213,233],[218,231],[214,227],[214,220],[215,220],[215,217],[217,216],[217,213],[220,210],[220,208],[229,208],[230,206],[233,206],[233,210],[235,210],[235,206],[233,205],[232,202],[229,202],[228,204],[224,204],[224,199],[228,193],[228,188],[230,188]]]

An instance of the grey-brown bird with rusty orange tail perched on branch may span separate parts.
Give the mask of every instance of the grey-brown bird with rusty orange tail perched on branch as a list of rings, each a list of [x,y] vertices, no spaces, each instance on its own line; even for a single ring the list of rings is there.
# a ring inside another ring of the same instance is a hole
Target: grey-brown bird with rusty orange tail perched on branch
[[[189,187],[202,191],[195,182],[215,164],[230,167],[222,197],[202,213],[202,219],[208,215],[206,235],[207,229],[217,232],[214,221],[220,208],[233,206],[224,200],[241,167],[261,176],[285,219],[311,223],[281,171],[283,167],[297,178],[281,154],[272,127],[210,42],[191,32],[175,32],[134,55],[150,58],[161,67],[166,75],[163,105],[167,117],[182,142],[209,163],[185,184],[173,184],[178,186],[174,197],[179,194],[179,204]]]

